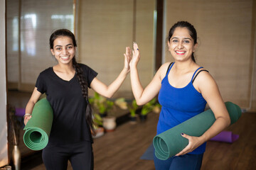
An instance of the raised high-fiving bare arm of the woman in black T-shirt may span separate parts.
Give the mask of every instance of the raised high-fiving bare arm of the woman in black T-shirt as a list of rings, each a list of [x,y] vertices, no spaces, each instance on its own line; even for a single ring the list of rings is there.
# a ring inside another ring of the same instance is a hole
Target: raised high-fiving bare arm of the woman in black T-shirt
[[[96,91],[98,94],[105,96],[107,98],[111,98],[114,93],[119,89],[119,87],[124,82],[124,79],[127,77],[127,74],[129,73],[129,61],[130,61],[130,48],[126,47],[126,53],[124,54],[124,68],[122,69],[122,72],[120,72],[117,79],[115,79],[109,86],[102,83],[99,79],[95,77],[95,79],[92,80],[90,86],[94,91]]]

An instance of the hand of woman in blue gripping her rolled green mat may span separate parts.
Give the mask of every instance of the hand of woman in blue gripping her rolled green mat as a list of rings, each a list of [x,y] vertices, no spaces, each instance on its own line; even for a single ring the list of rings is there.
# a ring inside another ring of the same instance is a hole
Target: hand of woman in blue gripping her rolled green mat
[[[189,152],[192,152],[194,149],[196,149],[197,147],[203,144],[200,137],[189,136],[184,133],[183,135],[181,134],[181,136],[188,139],[188,145],[181,152],[175,155],[177,157],[183,154],[188,154]]]

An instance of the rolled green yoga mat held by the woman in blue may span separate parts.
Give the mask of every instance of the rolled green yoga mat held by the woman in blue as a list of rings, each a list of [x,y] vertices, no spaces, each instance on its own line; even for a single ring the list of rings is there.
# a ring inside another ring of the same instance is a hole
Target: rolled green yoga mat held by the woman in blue
[[[235,123],[242,114],[241,108],[230,101],[225,102],[225,106],[230,114],[231,124]],[[199,137],[203,135],[214,122],[215,117],[213,111],[209,109],[176,125],[174,128],[156,135],[153,139],[156,157],[161,160],[166,160],[178,154],[178,152],[181,152],[181,150],[188,145],[188,140],[182,137],[181,133]]]

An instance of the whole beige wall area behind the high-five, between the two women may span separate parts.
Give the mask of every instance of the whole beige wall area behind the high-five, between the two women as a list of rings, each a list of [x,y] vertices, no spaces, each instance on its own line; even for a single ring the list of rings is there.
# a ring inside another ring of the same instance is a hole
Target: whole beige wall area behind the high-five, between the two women
[[[153,12],[154,1],[79,1],[79,62],[95,69],[97,78],[110,84],[124,67],[125,47],[132,47],[135,34],[144,52],[140,77],[148,83],[153,73]],[[131,90],[128,76],[116,96],[131,98]]]

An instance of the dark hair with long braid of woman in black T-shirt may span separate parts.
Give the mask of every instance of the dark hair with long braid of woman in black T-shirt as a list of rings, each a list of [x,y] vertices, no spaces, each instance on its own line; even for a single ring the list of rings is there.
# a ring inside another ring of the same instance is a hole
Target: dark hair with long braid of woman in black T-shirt
[[[54,40],[60,36],[66,36],[66,37],[71,38],[73,41],[74,47],[77,47],[77,43],[75,41],[75,35],[70,30],[60,29],[60,30],[55,30],[52,33],[52,35],[50,35],[50,49],[53,49]],[[73,57],[72,64],[73,64],[75,73],[78,77],[78,81],[79,81],[79,84],[82,89],[82,96],[85,98],[85,102],[87,104],[86,111],[85,111],[85,118],[86,118],[87,124],[89,125],[90,129],[94,133],[95,129],[93,128],[92,108],[90,106],[89,98],[88,98],[88,84],[84,77],[82,69],[80,68],[79,64],[75,60],[75,56]]]

